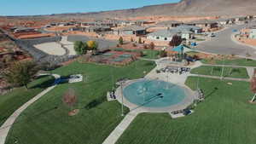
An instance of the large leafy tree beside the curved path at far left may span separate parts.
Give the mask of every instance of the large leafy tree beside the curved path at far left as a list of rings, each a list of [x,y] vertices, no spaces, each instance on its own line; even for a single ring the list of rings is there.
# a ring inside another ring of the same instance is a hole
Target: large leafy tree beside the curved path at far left
[[[2,73],[3,78],[13,86],[25,86],[38,72],[38,67],[33,61],[23,61],[13,63],[8,70]]]

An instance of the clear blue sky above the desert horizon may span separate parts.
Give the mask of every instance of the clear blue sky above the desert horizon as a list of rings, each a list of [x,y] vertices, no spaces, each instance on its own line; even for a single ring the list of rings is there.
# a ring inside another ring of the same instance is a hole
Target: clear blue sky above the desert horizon
[[[179,0],[1,0],[0,15],[61,14],[130,9]]]

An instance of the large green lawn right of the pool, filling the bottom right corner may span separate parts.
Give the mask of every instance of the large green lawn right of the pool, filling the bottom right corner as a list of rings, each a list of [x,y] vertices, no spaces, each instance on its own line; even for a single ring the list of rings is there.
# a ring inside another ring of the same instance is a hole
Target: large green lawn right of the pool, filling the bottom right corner
[[[196,81],[190,77],[186,84],[196,89]],[[207,98],[194,113],[177,119],[140,114],[117,144],[254,144],[256,106],[247,102],[253,95],[249,83],[200,78],[200,87]]]

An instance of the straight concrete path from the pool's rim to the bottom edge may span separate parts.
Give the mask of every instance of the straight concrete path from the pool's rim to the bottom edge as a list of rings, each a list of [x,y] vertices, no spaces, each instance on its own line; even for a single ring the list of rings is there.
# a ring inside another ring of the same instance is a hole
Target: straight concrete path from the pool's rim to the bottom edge
[[[137,114],[136,110],[129,112],[125,115],[125,118],[121,121],[121,123],[112,131],[108,138],[103,141],[102,144],[114,144],[118,141],[119,137],[124,133],[124,131],[128,128],[131,124],[132,120],[136,118]]]

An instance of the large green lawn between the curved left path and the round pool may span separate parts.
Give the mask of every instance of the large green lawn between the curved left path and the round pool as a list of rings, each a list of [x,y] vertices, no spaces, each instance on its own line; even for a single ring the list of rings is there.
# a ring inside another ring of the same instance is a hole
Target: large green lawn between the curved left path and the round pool
[[[6,144],[15,141],[22,144],[101,144],[123,118],[119,102],[106,101],[107,91],[117,79],[141,78],[154,66],[154,62],[145,60],[124,67],[75,61],[56,69],[55,73],[62,76],[81,73],[85,81],[58,85],[33,103],[17,119]],[[68,88],[73,88],[79,96],[74,108],[79,108],[80,112],[73,117],[67,116],[69,109],[61,102],[61,96]],[[128,112],[127,108],[125,112]]]

